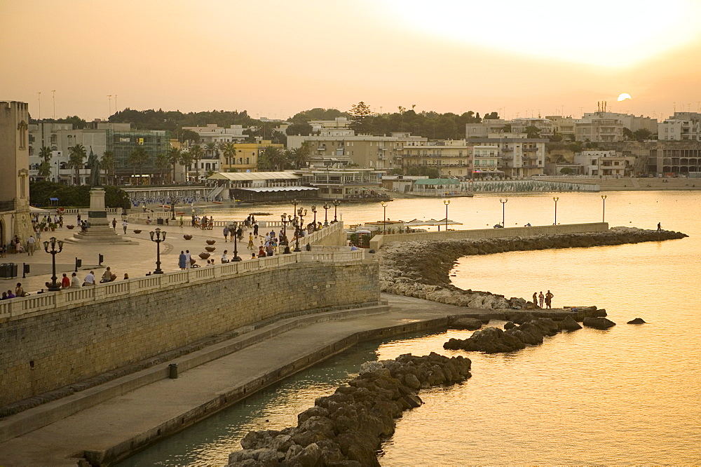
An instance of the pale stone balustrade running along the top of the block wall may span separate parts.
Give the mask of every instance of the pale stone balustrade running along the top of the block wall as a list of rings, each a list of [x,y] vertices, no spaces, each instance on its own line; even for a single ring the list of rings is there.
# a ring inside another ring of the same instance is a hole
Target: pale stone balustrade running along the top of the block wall
[[[125,296],[157,292],[158,290],[182,286],[183,284],[235,278],[240,274],[279,268],[288,264],[310,262],[346,263],[360,262],[363,259],[365,259],[365,250],[351,251],[348,247],[313,247],[311,251],[290,253],[289,255],[215,264],[214,266],[187,269],[186,271],[172,271],[144,278],[95,284],[79,289],[70,288],[60,292],[43,292],[42,294],[29,295],[29,297],[4,300],[0,303],[0,320],[18,318],[29,313],[46,313],[65,307],[76,307],[96,302],[111,302]]]

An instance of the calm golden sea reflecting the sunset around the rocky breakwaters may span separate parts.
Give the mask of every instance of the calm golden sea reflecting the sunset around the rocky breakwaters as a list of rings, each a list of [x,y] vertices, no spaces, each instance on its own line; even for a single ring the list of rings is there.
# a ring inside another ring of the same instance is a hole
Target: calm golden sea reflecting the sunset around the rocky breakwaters
[[[509,196],[507,226],[552,224],[553,195]],[[600,222],[599,194],[556,194],[557,222]],[[505,355],[469,353],[472,378],[423,391],[425,404],[404,412],[384,442],[383,465],[698,464],[701,463],[701,194],[610,192],[611,226],[683,231],[689,238],[601,248],[465,257],[454,269],[458,287],[507,297],[551,290],[553,305],[606,308],[615,327],[546,338],[542,346]],[[503,196],[502,196],[503,198]],[[309,208],[308,206],[304,206]],[[205,212],[243,219],[248,212],[279,219],[292,206],[257,205]],[[341,205],[346,224],[382,218],[379,204]],[[333,219],[333,210],[329,210]],[[317,219],[323,222],[324,211]],[[403,199],[389,219],[442,219],[440,199]],[[339,216],[340,217],[340,216]],[[454,198],[458,229],[501,222],[498,196]],[[311,217],[308,217],[311,220]],[[646,325],[627,325],[641,317]],[[221,465],[252,429],[296,424],[297,413],[358,372],[360,364],[401,353],[444,351],[468,331],[412,335],[362,344],[302,372],[187,431],[124,461],[123,466]]]

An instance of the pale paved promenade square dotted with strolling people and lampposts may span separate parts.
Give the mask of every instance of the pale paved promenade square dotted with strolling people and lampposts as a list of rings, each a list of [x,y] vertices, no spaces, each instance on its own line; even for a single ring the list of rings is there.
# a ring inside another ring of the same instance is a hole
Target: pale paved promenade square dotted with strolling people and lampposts
[[[108,216],[111,221],[113,218]],[[118,234],[123,234],[121,226],[121,217],[116,217]],[[179,219],[179,217],[178,217]],[[224,220],[224,219],[218,219]],[[117,280],[124,277],[124,273],[128,273],[130,278],[143,277],[148,272],[156,269],[156,243],[151,241],[149,231],[160,227],[161,230],[167,232],[165,242],[161,243],[161,269],[165,272],[179,270],[177,266],[178,255],[181,250],[190,250],[194,259],[197,259],[200,266],[207,264],[205,259],[200,259],[197,255],[200,252],[205,252],[206,240],[215,240],[217,243],[212,245],[216,248],[210,258],[220,263],[220,257],[224,250],[229,250],[229,259],[233,257],[233,243],[224,243],[224,234],[222,227],[215,227],[212,230],[201,230],[189,225],[190,218],[184,217],[184,226],[182,229],[179,226],[179,220],[172,222],[170,225],[156,225],[152,222],[151,225],[130,223],[127,229],[125,238],[139,243],[138,245],[100,245],[88,243],[64,243],[63,251],[56,255],[56,276],[60,282],[62,273],[71,273],[75,271],[75,259],[82,259],[83,266],[78,271],[78,276],[83,280],[92,269],[95,271],[95,278],[100,281],[104,268],[109,266],[110,270],[116,274]],[[36,245],[34,255],[27,253],[8,254],[7,257],[0,258],[0,263],[13,262],[18,264],[18,276],[12,279],[0,278],[0,292],[7,290],[15,290],[15,285],[20,282],[26,292],[34,294],[37,290],[45,288],[44,283],[51,280],[51,255],[44,252],[41,242],[48,240],[54,236],[58,240],[72,238],[78,230],[69,230],[67,224],[76,225],[76,215],[64,216],[63,228],[57,228],[55,231],[41,232],[41,240]],[[141,230],[141,233],[135,234],[134,230]],[[270,231],[271,229],[267,229]],[[277,229],[279,230],[279,229]],[[277,231],[276,230],[276,231]],[[250,229],[249,231],[252,231]],[[263,234],[265,229],[260,229],[259,234]],[[192,235],[191,240],[185,240],[184,234]],[[243,243],[243,244],[242,244]],[[260,239],[257,244],[259,245]],[[250,259],[251,253],[254,250],[249,250],[248,231],[245,231],[243,242],[238,242],[238,255],[244,259]],[[258,252],[256,248],[255,252]],[[102,266],[98,266],[98,255],[103,255],[104,262]],[[29,264],[30,273],[26,278],[22,278],[22,263]]]

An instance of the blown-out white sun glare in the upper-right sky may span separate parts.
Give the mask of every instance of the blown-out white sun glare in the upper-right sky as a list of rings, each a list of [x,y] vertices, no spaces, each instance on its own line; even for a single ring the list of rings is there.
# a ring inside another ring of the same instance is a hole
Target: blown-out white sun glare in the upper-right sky
[[[602,67],[625,67],[694,39],[701,2],[387,0],[388,14],[421,29],[482,49]]]

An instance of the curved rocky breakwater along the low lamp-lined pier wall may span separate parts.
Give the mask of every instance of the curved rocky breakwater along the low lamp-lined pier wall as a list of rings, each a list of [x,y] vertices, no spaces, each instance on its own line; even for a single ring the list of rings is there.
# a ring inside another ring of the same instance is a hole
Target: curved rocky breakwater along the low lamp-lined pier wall
[[[590,234],[557,234],[474,240],[414,241],[383,246],[376,256],[380,262],[382,292],[407,295],[450,305],[484,309],[523,309],[526,300],[503,295],[463,290],[450,283],[450,271],[464,256],[491,255],[508,251],[586,248],[684,238],[673,231],[613,227]]]

